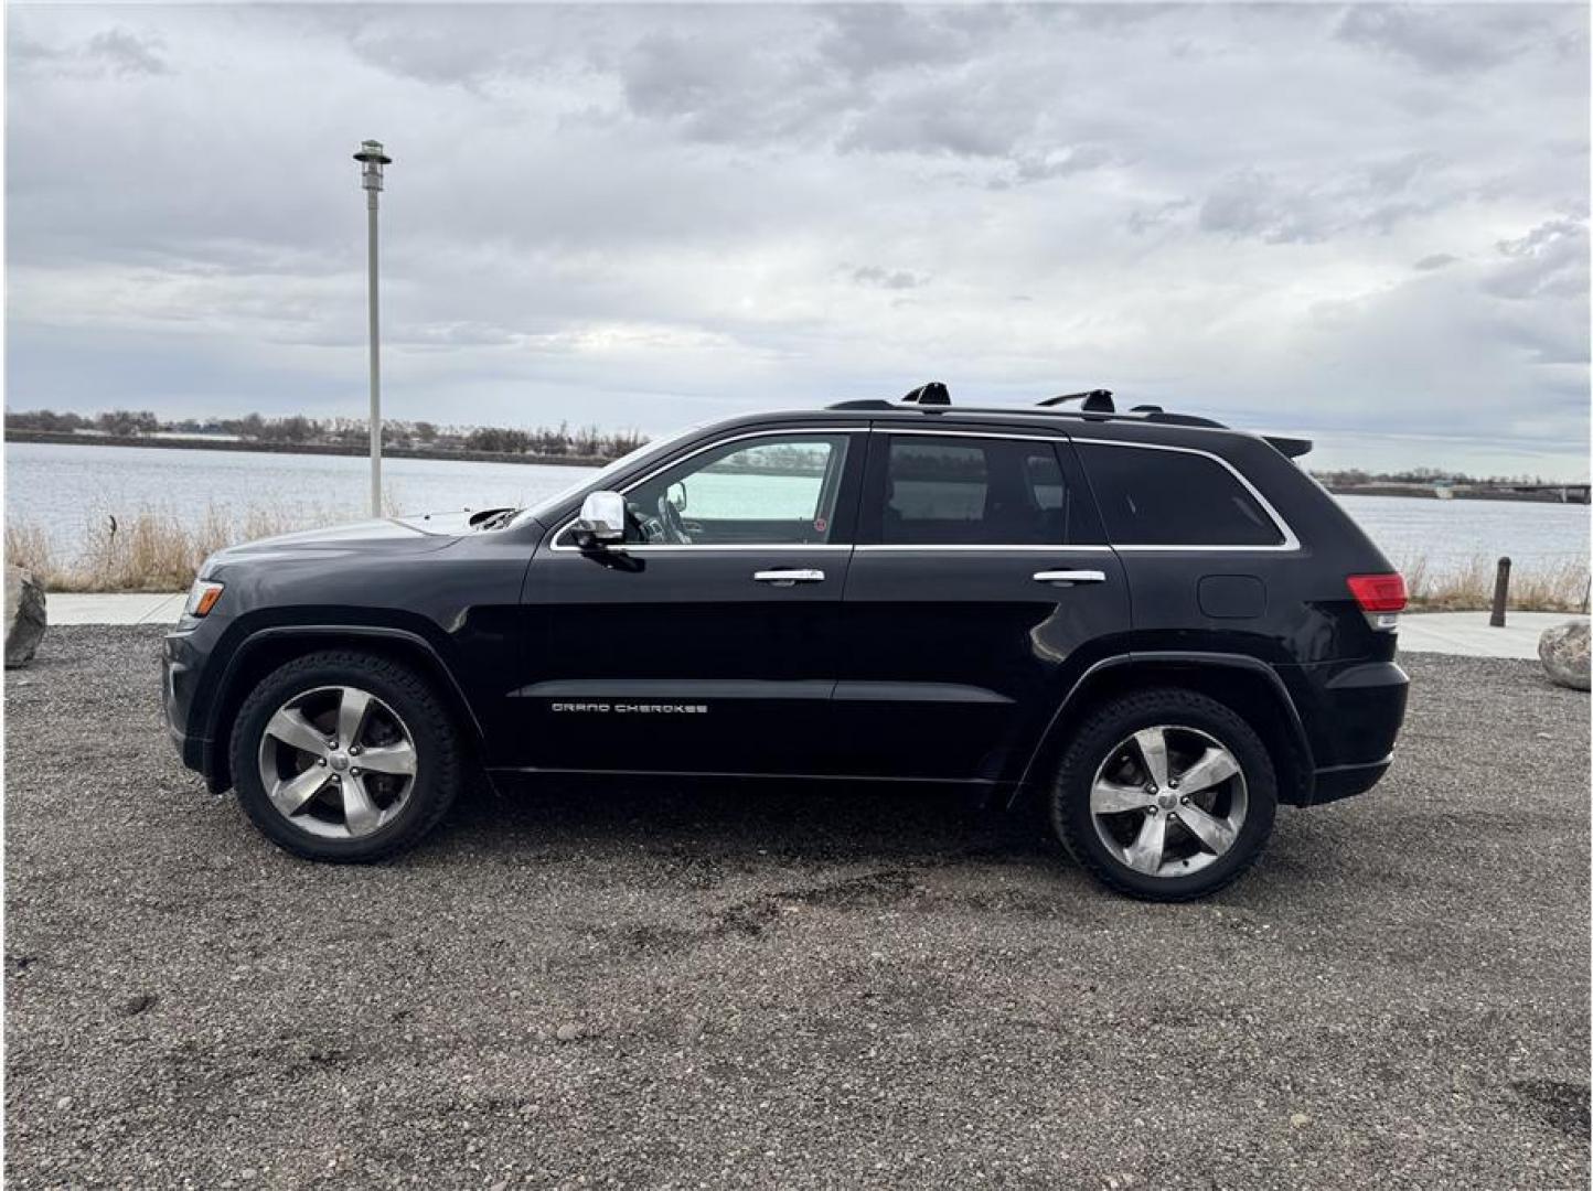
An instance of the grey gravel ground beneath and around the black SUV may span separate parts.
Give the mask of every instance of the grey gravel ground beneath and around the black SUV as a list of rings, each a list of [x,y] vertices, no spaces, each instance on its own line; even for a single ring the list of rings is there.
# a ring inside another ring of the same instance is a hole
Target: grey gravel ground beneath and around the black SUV
[[[1588,1181],[1588,699],[1408,659],[1375,793],[1214,901],[902,791],[479,793],[295,861],[159,635],[6,683],[13,1186]]]

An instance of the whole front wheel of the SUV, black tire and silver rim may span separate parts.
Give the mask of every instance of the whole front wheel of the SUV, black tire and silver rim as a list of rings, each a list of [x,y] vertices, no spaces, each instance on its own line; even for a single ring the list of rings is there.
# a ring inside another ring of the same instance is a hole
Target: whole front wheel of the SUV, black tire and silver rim
[[[333,863],[413,847],[462,783],[459,732],[406,666],[358,651],[296,658],[239,709],[237,801],[274,844]]]

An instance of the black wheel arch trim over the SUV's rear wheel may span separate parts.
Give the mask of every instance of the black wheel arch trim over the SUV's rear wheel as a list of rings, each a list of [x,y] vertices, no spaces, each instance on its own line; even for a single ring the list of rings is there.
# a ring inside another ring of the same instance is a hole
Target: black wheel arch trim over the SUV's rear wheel
[[[1243,715],[1273,755],[1278,801],[1290,806],[1311,802],[1316,763],[1300,710],[1284,680],[1258,658],[1198,651],[1126,653],[1102,658],[1085,670],[1063,696],[1029,755],[1012,802],[1047,780],[1091,705],[1157,686],[1198,691]]]

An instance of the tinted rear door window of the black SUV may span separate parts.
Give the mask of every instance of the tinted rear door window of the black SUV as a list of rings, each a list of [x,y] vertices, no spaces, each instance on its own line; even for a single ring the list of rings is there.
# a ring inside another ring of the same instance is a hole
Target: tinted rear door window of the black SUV
[[[887,546],[1069,541],[1074,494],[1047,441],[890,435],[875,494]]]

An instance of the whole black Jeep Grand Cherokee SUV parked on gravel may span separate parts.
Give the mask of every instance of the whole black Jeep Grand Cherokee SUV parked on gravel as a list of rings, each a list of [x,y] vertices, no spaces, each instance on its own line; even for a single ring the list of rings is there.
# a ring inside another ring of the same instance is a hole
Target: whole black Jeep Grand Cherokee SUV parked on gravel
[[[758,414],[534,508],[225,549],[172,737],[317,860],[414,844],[473,772],[910,780],[1035,791],[1107,885],[1200,896],[1388,769],[1405,584],[1309,443],[1074,396]]]

